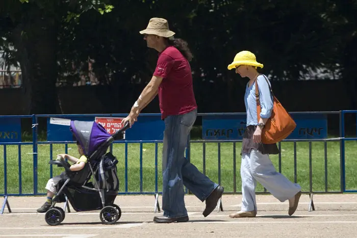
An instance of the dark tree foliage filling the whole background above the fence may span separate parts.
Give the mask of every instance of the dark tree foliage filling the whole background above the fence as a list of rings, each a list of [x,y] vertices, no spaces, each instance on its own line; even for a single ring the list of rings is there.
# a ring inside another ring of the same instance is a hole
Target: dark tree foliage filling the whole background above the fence
[[[189,43],[196,94],[204,98],[210,87],[232,93],[227,65],[241,50],[254,52],[273,80],[299,80],[321,68],[353,78],[356,6],[353,0],[5,0],[0,47],[20,62],[29,112],[49,112],[56,108],[56,82],[95,75],[113,95],[147,83],[157,54],[139,31],[151,17],[164,17]]]

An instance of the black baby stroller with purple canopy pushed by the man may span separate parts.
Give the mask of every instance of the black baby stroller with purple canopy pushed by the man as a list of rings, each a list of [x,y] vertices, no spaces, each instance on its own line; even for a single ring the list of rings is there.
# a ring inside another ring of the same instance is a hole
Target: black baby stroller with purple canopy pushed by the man
[[[63,180],[57,184],[57,194],[51,207],[46,211],[45,221],[48,225],[58,225],[65,218],[57,202],[65,202],[67,197],[75,211],[99,210],[100,221],[104,224],[114,224],[121,217],[120,207],[114,204],[119,191],[117,177],[118,163],[116,157],[108,152],[108,147],[114,140],[123,138],[123,131],[129,128],[127,123],[123,128],[110,135],[107,130],[94,121],[71,121],[69,129],[88,158],[85,167],[80,171],[70,171],[66,161],[50,161],[49,164],[63,167]],[[90,182],[93,175],[94,184]]]

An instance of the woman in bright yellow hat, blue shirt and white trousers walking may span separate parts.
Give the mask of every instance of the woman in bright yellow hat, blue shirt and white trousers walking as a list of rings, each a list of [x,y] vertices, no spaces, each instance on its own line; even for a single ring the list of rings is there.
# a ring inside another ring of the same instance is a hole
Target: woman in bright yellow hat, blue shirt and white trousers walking
[[[248,77],[244,102],[247,113],[246,130],[242,142],[242,207],[237,213],[230,214],[231,218],[255,217],[257,215],[256,186],[260,182],[275,198],[284,202],[289,200],[291,216],[298,205],[301,195],[299,184],[292,183],[281,173],[276,172],[269,154],[278,154],[276,144],[262,143],[262,129],[271,116],[273,110],[273,97],[270,93],[270,82],[257,68],[263,68],[258,63],[256,56],[250,51],[239,52],[228,69],[236,69],[241,77]],[[261,104],[260,120],[258,121],[256,84],[258,82],[259,98]]]

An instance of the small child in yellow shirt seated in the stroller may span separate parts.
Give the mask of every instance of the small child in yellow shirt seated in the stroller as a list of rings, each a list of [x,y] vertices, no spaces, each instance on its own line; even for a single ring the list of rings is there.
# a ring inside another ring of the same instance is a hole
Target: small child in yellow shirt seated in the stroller
[[[79,141],[77,141],[78,152],[80,154],[80,158],[73,157],[69,154],[59,154],[57,157],[61,158],[61,160],[67,159],[68,161],[74,163],[69,167],[70,171],[79,171],[84,168],[88,159],[86,155],[84,155],[83,148],[80,145]],[[56,177],[50,178],[46,184],[47,190],[47,198],[45,203],[37,209],[38,213],[45,213],[49,207],[52,205],[52,198],[57,193],[57,184],[63,180],[63,174],[57,175]]]

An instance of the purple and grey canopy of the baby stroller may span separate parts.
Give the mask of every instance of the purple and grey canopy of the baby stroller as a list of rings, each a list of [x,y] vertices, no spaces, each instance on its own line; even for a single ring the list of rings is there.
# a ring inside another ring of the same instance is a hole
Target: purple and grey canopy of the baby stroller
[[[90,156],[100,144],[111,137],[102,125],[94,121],[71,121],[69,129],[80,142],[86,156]]]

